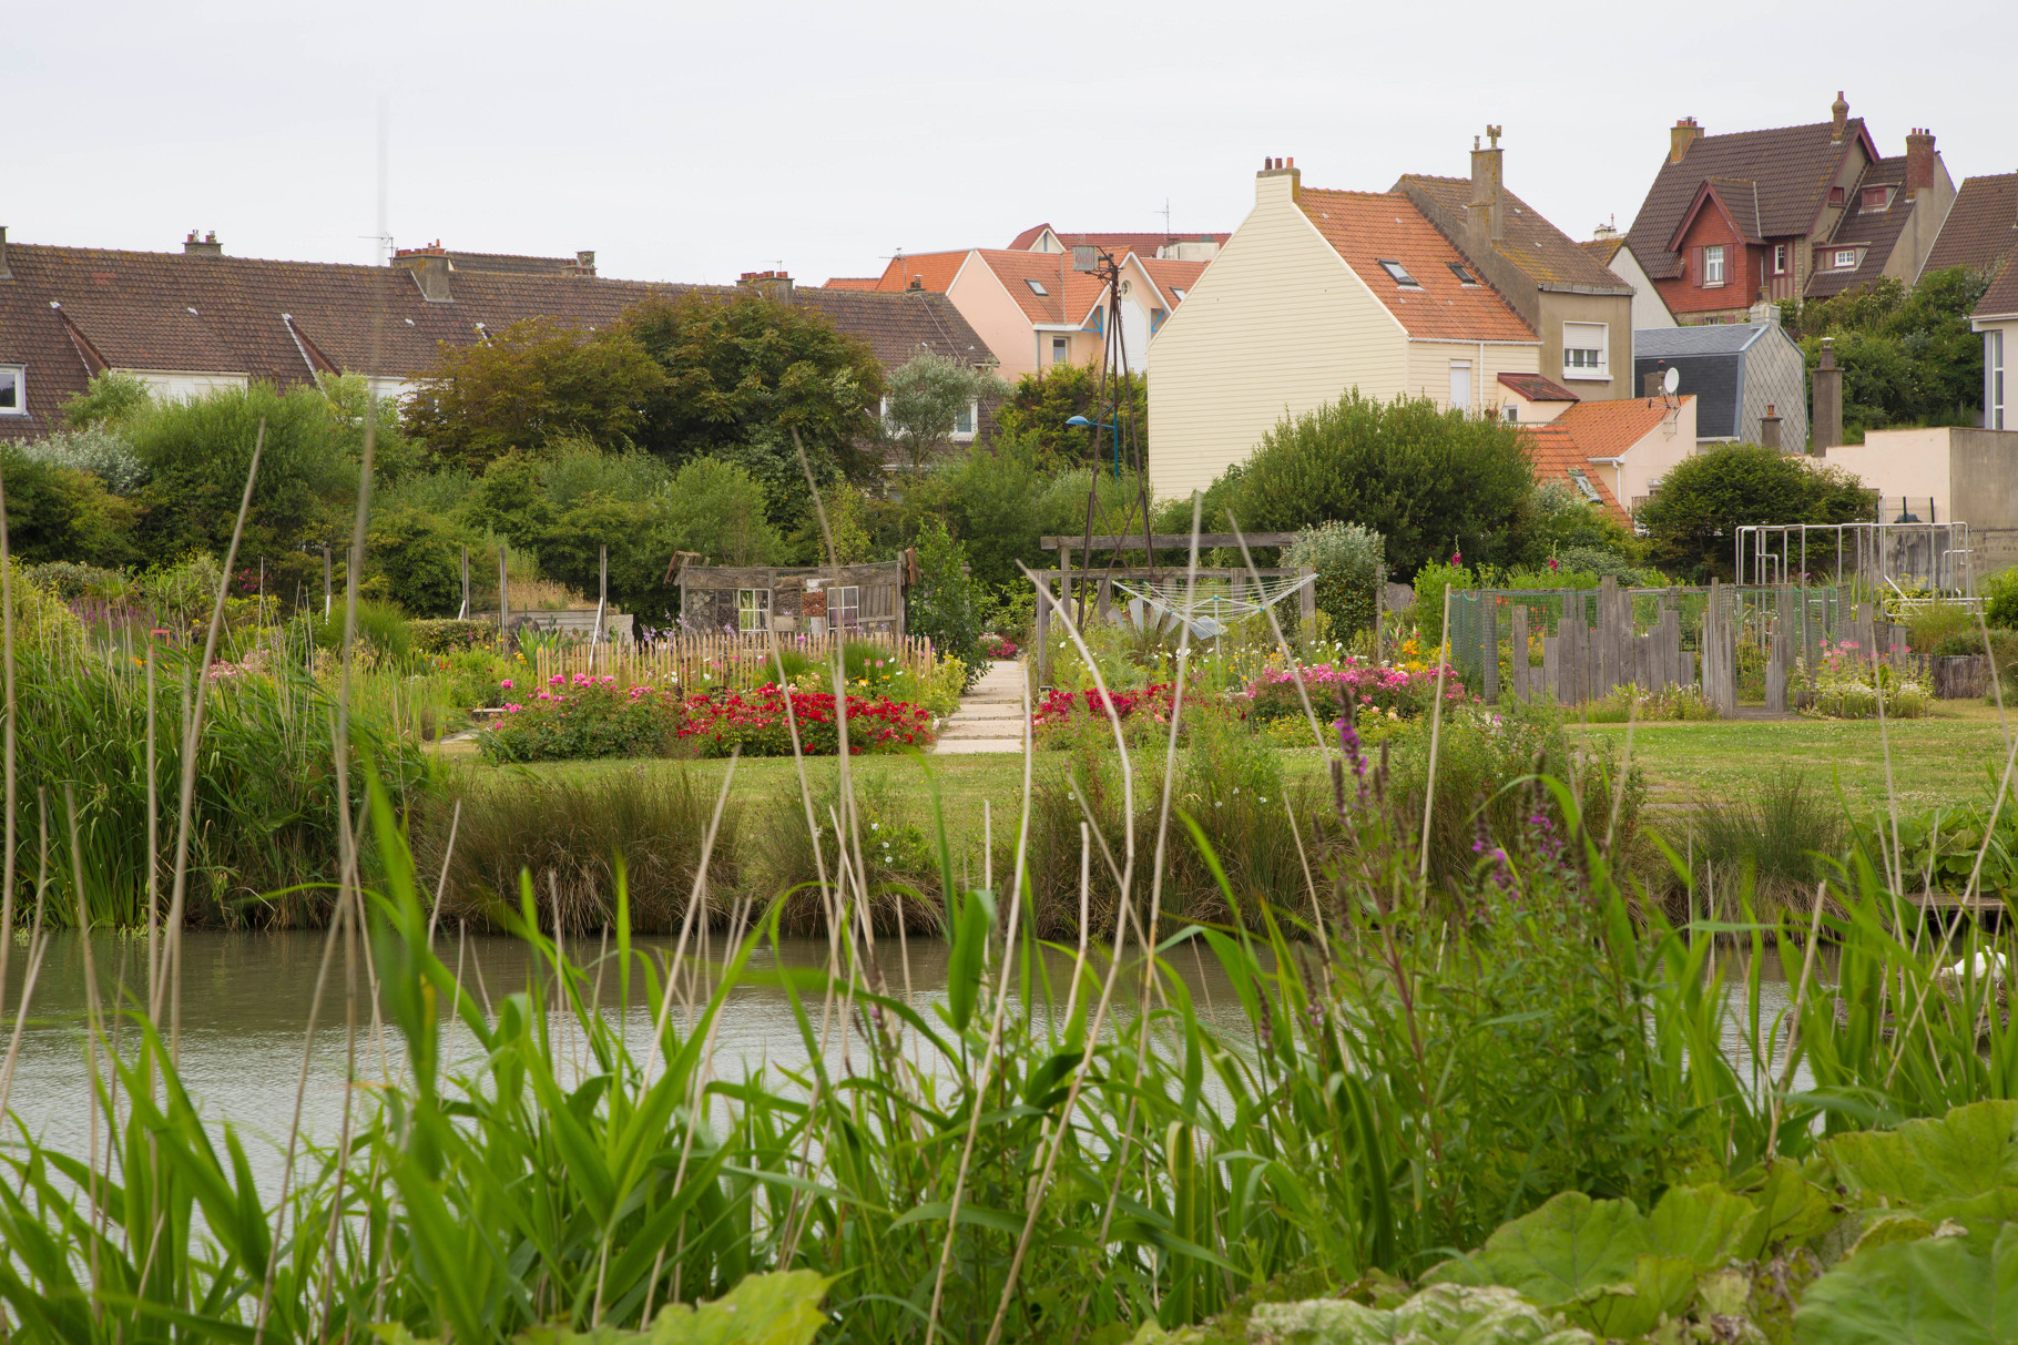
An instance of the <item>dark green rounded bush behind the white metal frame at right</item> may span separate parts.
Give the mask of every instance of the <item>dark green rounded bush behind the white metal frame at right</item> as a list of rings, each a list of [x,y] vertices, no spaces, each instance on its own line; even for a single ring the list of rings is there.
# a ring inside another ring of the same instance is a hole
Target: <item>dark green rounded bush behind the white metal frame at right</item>
[[[1639,511],[1655,563],[1691,580],[1729,580],[1731,547],[1746,523],[1869,519],[1871,491],[1842,469],[1814,462],[1758,444],[1723,444],[1683,458]]]

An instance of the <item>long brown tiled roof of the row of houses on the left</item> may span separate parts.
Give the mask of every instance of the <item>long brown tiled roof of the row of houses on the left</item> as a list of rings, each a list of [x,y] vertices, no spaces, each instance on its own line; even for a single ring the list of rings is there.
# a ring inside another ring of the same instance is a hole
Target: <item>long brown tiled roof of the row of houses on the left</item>
[[[454,271],[450,303],[428,303],[404,267],[119,252],[10,242],[0,281],[0,361],[28,366],[28,416],[0,436],[46,434],[61,404],[105,368],[236,374],[295,384],[321,370],[410,378],[440,345],[470,345],[527,317],[607,327],[654,295],[731,287],[589,275]],[[793,303],[868,341],[884,368],[930,349],[993,361],[944,295],[797,289]]]

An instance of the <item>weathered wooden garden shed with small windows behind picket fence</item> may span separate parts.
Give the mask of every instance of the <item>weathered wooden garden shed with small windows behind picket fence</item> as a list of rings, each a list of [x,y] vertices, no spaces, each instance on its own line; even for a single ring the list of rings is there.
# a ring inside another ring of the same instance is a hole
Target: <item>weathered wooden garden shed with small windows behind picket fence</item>
[[[680,565],[688,630],[904,634],[904,561],[872,565]]]

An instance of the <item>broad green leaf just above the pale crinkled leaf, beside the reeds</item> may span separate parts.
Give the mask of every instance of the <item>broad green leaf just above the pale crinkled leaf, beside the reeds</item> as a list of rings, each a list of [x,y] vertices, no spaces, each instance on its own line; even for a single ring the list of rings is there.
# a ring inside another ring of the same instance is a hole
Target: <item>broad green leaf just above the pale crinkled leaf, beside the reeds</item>
[[[1653,1250],[1647,1218],[1631,1200],[1564,1192],[1501,1224],[1481,1250],[1443,1262],[1425,1280],[1507,1284],[1542,1307],[1556,1307],[1588,1288],[1631,1280],[1635,1260]]]

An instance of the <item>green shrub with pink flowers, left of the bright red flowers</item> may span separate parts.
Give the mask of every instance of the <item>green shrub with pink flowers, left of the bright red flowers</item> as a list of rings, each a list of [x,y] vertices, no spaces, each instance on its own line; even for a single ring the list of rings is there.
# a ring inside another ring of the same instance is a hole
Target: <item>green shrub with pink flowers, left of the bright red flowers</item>
[[[638,685],[618,689],[613,677],[555,672],[531,701],[517,701],[511,679],[498,721],[476,745],[490,761],[579,761],[587,757],[656,755],[672,741],[682,707],[674,693]]]

